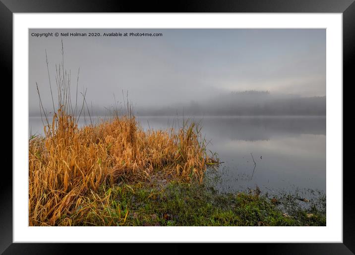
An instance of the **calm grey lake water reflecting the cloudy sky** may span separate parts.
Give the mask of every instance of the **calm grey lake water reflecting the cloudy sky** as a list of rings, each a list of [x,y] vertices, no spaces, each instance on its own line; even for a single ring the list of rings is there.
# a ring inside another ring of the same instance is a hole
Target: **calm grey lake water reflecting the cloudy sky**
[[[176,117],[137,120],[145,129],[173,127],[182,121]],[[218,189],[258,186],[268,193],[326,191],[325,117],[201,117],[195,121],[203,125],[208,149],[224,162]],[[32,134],[43,133],[41,118],[31,117],[29,128]]]

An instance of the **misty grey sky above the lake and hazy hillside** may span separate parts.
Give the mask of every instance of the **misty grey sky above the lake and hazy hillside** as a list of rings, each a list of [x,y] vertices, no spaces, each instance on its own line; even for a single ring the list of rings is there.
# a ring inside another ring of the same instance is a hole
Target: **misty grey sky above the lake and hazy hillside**
[[[35,37],[32,33],[55,33]],[[60,33],[161,33],[161,37],[61,37]],[[29,112],[45,108],[56,64],[71,71],[72,91],[109,107],[128,91],[135,107],[166,107],[242,90],[326,95],[325,29],[30,29]],[[115,97],[114,97],[115,94]]]

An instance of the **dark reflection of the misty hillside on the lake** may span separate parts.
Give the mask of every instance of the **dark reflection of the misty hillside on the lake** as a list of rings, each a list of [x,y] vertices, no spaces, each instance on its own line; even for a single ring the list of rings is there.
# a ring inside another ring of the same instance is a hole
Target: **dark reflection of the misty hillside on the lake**
[[[139,117],[143,127],[167,128],[172,123],[178,126],[182,118],[174,117]],[[195,117],[203,126],[202,132],[213,141],[269,140],[276,136],[298,136],[300,134],[326,134],[324,117]]]

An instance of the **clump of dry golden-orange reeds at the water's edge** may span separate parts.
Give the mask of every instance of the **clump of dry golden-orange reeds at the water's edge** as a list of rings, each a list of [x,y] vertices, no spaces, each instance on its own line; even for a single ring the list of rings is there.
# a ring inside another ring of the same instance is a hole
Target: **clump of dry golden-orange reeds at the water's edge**
[[[120,179],[146,181],[157,171],[183,182],[201,182],[208,156],[201,129],[184,122],[175,131],[147,130],[132,114],[78,127],[63,107],[29,141],[30,225],[56,225],[82,207],[87,194]]]

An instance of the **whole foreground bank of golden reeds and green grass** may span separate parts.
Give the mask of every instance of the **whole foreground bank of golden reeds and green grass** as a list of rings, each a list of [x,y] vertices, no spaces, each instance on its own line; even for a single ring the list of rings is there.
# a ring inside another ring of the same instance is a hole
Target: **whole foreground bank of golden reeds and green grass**
[[[45,135],[29,139],[30,226],[325,225],[316,208],[285,213],[258,191],[221,194],[207,185],[206,169],[219,159],[191,120],[145,131],[127,100],[122,114],[78,127],[85,106],[91,119],[86,91],[78,106],[77,79],[72,105],[63,59],[56,71],[57,106],[48,70],[52,119],[37,86]]]

